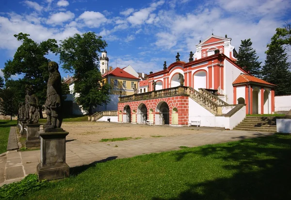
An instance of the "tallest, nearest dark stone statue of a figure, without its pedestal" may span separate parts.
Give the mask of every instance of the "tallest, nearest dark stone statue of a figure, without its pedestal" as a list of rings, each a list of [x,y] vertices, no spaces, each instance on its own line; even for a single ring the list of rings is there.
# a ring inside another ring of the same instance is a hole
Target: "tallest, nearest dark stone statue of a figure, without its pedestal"
[[[59,65],[56,62],[49,62],[49,81],[47,89],[47,100],[45,102],[47,123],[44,124],[44,129],[61,128],[62,115],[62,83]]]

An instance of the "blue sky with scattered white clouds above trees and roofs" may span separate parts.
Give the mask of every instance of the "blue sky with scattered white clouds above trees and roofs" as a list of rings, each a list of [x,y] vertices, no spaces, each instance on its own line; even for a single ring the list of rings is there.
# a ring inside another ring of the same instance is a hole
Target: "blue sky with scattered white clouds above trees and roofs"
[[[291,21],[290,10],[291,0],[0,0],[0,69],[21,45],[13,36],[20,32],[38,43],[95,32],[108,44],[109,66],[147,74],[175,62],[177,52],[187,62],[212,31],[227,34],[237,51],[251,38],[264,62],[266,45]],[[59,63],[58,56],[47,57]],[[68,74],[61,65],[60,72]]]

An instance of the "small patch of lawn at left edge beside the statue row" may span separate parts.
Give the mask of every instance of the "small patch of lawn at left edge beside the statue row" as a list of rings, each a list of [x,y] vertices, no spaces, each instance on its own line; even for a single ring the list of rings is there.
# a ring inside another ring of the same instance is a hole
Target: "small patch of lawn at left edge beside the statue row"
[[[16,120],[0,120],[0,154],[7,150],[10,127],[16,124]]]

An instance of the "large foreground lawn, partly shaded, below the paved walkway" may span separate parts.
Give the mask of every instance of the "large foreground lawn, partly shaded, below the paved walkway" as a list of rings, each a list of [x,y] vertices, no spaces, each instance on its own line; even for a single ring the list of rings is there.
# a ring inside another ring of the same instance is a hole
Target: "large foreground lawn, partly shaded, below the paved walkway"
[[[291,199],[291,135],[152,153],[70,169],[18,199]],[[17,199],[17,198],[14,198]]]

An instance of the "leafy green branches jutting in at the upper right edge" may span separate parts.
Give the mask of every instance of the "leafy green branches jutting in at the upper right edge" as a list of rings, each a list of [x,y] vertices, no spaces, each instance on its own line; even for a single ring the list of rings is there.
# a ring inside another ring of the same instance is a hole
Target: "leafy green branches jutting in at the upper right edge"
[[[270,44],[267,47],[283,45],[287,50],[291,50],[291,24],[288,22],[284,25],[284,28],[276,28],[276,33],[273,35]],[[268,50],[266,51],[268,52]]]

